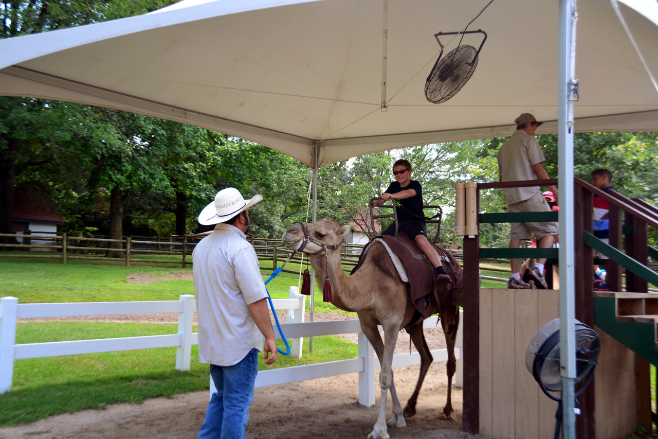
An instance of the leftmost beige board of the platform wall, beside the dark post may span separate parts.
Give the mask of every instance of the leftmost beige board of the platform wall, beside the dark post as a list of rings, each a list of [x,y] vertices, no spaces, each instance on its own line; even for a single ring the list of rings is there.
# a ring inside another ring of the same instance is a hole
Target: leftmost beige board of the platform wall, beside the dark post
[[[493,437],[492,291],[480,289],[480,434],[486,438]]]

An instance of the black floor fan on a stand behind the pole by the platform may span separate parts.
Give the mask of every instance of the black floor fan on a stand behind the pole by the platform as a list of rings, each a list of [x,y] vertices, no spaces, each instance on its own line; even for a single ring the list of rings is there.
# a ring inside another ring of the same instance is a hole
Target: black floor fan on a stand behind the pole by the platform
[[[585,391],[594,376],[594,367],[599,357],[601,341],[598,334],[584,323],[575,321],[576,329],[576,378],[574,384],[584,380],[584,383],[575,392],[577,398]],[[557,401],[555,412],[555,439],[559,439],[562,421],[562,398],[550,392],[562,389],[562,376],[560,374],[560,319],[556,318],[545,324],[537,334],[532,337],[526,349],[526,367],[534,376],[544,394]],[[578,407],[576,400],[575,407]]]

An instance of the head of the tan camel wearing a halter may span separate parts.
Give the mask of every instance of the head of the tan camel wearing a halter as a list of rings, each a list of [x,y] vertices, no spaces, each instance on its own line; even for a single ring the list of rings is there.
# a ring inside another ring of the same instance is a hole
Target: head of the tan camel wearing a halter
[[[324,254],[325,246],[338,247],[343,235],[349,232],[349,225],[340,227],[338,223],[320,220],[315,223],[296,223],[288,227],[281,239],[290,250],[300,250],[308,254]],[[306,245],[303,245],[306,243]]]

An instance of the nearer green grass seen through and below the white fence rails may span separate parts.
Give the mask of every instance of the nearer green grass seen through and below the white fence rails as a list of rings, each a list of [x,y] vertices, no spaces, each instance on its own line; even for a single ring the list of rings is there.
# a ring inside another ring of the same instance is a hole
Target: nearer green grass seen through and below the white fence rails
[[[175,334],[176,330],[175,324],[21,323],[16,343]],[[284,349],[282,341],[278,344]],[[350,359],[358,353],[357,345],[333,336],[314,337],[313,353],[307,346],[305,342],[301,359],[278,355],[272,366],[266,366],[260,355],[259,370]],[[0,395],[0,425],[208,389],[208,365],[199,363],[197,346],[192,347],[189,372],[175,366],[174,347],[17,360],[13,390]]]

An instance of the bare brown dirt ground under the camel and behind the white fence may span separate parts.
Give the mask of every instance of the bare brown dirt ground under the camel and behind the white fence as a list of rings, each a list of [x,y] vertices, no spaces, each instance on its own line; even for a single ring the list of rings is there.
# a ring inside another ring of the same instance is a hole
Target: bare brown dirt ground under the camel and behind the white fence
[[[128,278],[131,276],[138,281],[145,281],[143,278],[149,275],[133,274]],[[285,322],[285,311],[279,311],[277,314],[280,321]],[[313,317],[314,321],[352,318],[330,312],[315,312]],[[41,320],[169,323],[176,322],[177,319],[176,314],[136,314]],[[346,334],[344,338],[355,342],[357,335]],[[440,329],[426,330],[426,339],[430,349],[445,347]],[[415,351],[413,346],[411,351]],[[408,352],[409,336],[401,332],[395,353]],[[404,407],[413,393],[418,378],[418,366],[395,368],[393,374],[395,387]],[[446,391],[445,363],[434,363],[418,397],[417,415],[407,419],[405,428],[390,427],[388,432],[391,438],[481,438],[482,436],[461,430],[462,392],[454,386],[453,407],[457,419],[439,419],[445,405]],[[251,404],[247,438],[366,438],[378,414],[379,392],[376,396],[374,406],[359,405],[357,373],[257,388]],[[193,439],[197,437],[199,427],[203,423],[208,399],[207,391],[191,392],[171,398],[148,399],[142,404],[121,403],[109,405],[102,410],[91,409],[56,415],[34,423],[0,428],[0,439]],[[387,405],[387,417],[390,417],[390,395]]]

